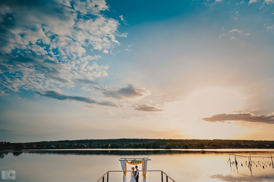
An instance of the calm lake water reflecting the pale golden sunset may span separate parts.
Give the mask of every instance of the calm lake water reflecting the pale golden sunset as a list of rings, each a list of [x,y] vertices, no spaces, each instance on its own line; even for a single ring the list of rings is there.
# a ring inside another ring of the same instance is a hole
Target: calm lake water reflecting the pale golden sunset
[[[250,153],[253,153],[252,156],[258,154],[268,156],[267,154],[271,153],[274,156],[274,150],[242,150],[244,151],[233,149],[202,152],[200,150],[90,149],[2,151],[0,170],[15,170],[15,181],[97,181],[107,170],[121,170],[120,157],[149,157],[151,161],[148,162],[148,170],[163,170],[177,182],[274,180],[271,158],[251,157],[251,171],[247,166],[248,158],[237,158],[238,169],[233,164],[230,168],[230,164],[227,163],[231,153],[242,156],[248,156]],[[231,162],[234,161],[233,159],[231,157]],[[130,167],[128,165],[128,170]],[[110,182],[122,181],[122,172],[112,172],[109,175]],[[127,173],[128,181],[129,177],[130,172]],[[139,179],[142,181],[142,177]],[[148,172],[147,181],[161,181],[160,172]]]

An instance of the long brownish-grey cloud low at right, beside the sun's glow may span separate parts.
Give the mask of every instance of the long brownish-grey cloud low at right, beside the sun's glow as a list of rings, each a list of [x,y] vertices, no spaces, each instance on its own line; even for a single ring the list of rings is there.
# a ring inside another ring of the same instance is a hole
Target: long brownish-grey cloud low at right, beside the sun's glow
[[[247,121],[247,122],[274,124],[274,113],[271,113],[267,116],[255,116],[252,113],[217,114],[209,118],[202,118],[202,120],[209,121],[209,122]]]

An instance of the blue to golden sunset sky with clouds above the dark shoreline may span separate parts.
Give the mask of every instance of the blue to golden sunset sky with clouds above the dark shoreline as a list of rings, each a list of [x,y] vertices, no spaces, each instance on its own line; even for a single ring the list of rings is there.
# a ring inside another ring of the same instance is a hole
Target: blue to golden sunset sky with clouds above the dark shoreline
[[[273,0],[0,9],[0,140],[274,140]]]

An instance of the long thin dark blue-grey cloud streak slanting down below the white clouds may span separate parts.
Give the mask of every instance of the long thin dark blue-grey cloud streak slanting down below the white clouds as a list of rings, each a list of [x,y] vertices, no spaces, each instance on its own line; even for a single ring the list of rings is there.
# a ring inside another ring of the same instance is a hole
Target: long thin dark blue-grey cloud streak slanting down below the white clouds
[[[92,99],[90,97],[83,97],[83,96],[69,96],[65,95],[62,92],[58,90],[50,90],[45,92],[36,92],[40,96],[49,97],[52,99],[62,100],[62,101],[78,101],[83,102],[87,104],[97,104],[101,106],[110,106],[110,107],[118,107],[117,104],[109,101],[97,101],[95,99]]]

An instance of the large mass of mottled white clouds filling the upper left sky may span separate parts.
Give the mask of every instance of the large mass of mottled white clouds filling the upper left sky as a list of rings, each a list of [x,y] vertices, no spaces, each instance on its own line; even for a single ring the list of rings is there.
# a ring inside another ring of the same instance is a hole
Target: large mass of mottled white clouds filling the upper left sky
[[[108,10],[104,0],[76,0],[73,8],[65,0],[33,6],[4,2],[0,8],[1,95],[74,87],[75,79],[108,76],[109,66],[94,62],[100,59],[97,52],[87,53],[112,53],[120,45],[119,22],[102,14]]]

